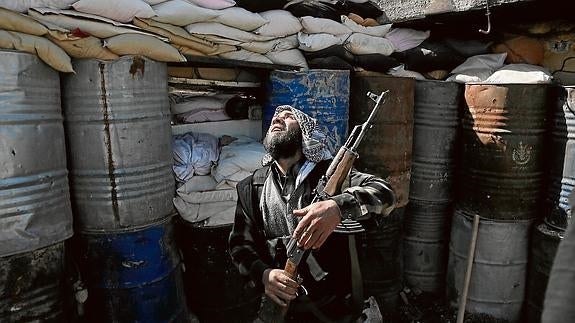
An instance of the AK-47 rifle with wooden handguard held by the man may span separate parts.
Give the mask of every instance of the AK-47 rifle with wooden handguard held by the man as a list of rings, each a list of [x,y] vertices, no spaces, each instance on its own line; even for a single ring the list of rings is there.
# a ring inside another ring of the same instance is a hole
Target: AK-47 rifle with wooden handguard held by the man
[[[388,92],[389,91],[384,91],[380,95],[376,95],[371,92],[367,93],[367,96],[371,100],[375,101],[373,110],[364,123],[356,125],[353,128],[345,144],[339,149],[337,155],[329,165],[325,175],[323,175],[319,180],[314,190],[314,197],[310,204],[327,200],[329,197],[339,192],[343,181],[353,166],[353,163],[359,157],[357,148],[363,140],[367,130],[373,126],[375,116],[377,115],[382,100]],[[334,230],[334,232],[346,234],[353,234],[362,231],[363,228],[361,224],[351,219],[342,220]],[[298,247],[297,241],[292,237],[286,245],[286,251],[288,259],[286,261],[284,272],[291,279],[297,281],[297,268],[302,260],[306,260],[310,250]],[[312,266],[310,266],[310,270],[313,271],[314,268],[311,267]],[[288,308],[289,302],[287,306],[282,307],[266,297],[260,309],[259,318],[266,323],[282,323]]]

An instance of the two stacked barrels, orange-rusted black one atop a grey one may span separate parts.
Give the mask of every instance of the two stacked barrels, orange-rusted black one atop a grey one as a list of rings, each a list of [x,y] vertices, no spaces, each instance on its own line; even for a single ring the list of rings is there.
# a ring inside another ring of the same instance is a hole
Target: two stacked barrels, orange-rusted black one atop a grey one
[[[457,307],[480,217],[467,312],[519,322],[529,236],[542,215],[547,85],[466,84],[447,275]]]

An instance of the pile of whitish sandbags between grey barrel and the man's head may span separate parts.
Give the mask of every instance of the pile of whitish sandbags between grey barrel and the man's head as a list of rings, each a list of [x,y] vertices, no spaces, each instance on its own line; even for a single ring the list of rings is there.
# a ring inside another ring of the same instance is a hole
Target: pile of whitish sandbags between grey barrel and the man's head
[[[198,226],[233,223],[236,184],[260,167],[265,153],[249,137],[217,138],[186,133],[174,138],[174,174],[179,182],[174,206]]]

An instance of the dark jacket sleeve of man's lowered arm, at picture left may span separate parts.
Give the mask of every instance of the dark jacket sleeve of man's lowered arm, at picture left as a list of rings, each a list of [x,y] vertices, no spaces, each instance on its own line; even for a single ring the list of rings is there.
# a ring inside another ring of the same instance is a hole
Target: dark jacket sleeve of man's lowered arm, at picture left
[[[256,226],[251,206],[251,176],[238,183],[238,203],[229,237],[229,252],[240,274],[257,288],[263,288],[262,276],[270,266],[264,261],[265,239]]]

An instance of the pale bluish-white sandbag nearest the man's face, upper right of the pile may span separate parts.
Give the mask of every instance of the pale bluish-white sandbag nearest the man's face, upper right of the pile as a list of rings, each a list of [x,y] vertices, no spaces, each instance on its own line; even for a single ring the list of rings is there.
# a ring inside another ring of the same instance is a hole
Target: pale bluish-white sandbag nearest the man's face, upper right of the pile
[[[212,169],[212,176],[218,183],[225,181],[235,187],[237,182],[261,167],[264,154],[265,149],[261,143],[240,136],[238,140],[222,147],[218,164]]]

